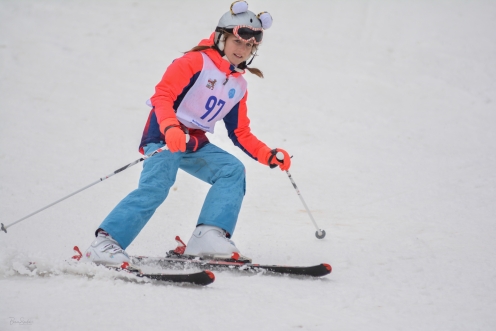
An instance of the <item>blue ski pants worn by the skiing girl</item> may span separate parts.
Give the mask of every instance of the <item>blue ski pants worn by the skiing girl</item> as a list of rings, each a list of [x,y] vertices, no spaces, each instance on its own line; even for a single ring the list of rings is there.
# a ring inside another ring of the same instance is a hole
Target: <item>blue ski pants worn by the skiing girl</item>
[[[164,144],[148,144],[145,153],[162,146]],[[245,168],[236,157],[211,143],[196,152],[165,150],[146,159],[138,188],[119,202],[100,228],[126,249],[167,198],[178,169],[212,185],[197,225],[217,226],[232,235],[245,195]]]

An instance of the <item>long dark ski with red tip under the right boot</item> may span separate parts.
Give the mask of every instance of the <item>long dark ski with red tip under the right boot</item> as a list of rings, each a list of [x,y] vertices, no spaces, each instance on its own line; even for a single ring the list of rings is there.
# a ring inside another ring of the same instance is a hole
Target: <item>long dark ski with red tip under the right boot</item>
[[[153,264],[171,269],[187,269],[196,267],[199,269],[211,269],[219,271],[235,270],[242,272],[262,272],[268,274],[286,274],[308,277],[322,277],[330,274],[332,271],[331,265],[327,263],[321,263],[312,266],[265,265],[251,262],[239,262],[233,259],[216,260],[189,256],[174,257],[173,255],[171,255],[170,252],[167,257],[132,256],[131,261],[137,266]]]

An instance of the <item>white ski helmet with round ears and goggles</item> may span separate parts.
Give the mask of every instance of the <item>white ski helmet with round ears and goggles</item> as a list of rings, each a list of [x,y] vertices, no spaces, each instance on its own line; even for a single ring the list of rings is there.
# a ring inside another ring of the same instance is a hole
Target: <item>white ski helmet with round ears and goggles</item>
[[[233,33],[241,39],[253,40],[255,44],[259,44],[262,42],[263,30],[271,26],[272,16],[269,13],[261,12],[255,15],[248,10],[246,1],[235,1],[231,4],[231,9],[222,15],[215,28],[214,44],[224,55],[224,39],[222,38],[224,32]]]

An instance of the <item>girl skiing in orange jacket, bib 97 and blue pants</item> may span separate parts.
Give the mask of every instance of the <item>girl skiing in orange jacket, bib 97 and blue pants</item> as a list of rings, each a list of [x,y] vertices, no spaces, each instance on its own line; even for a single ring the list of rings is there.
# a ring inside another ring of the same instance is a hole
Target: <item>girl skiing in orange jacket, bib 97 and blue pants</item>
[[[245,1],[236,1],[209,39],[167,68],[148,102],[152,110],[140,152],[149,154],[164,145],[167,150],[145,160],[138,188],[105,218],[82,261],[129,262],[124,250],[166,199],[178,169],[211,184],[184,253],[216,258],[239,254],[230,238],[245,194],[245,168],[236,157],[210,143],[205,133],[213,133],[215,124],[223,120],[233,143],[250,157],[264,165],[289,169],[289,154],[258,140],[247,116],[243,74],[248,70],[263,75],[248,68],[246,61],[255,56],[263,31],[271,24],[267,12],[255,15]],[[283,160],[275,157],[277,152],[284,154]]]

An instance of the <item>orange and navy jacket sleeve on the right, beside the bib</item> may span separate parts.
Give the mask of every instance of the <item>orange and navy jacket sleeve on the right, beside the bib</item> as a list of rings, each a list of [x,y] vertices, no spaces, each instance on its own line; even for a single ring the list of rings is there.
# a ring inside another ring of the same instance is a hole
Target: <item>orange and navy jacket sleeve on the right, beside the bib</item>
[[[250,119],[248,118],[248,109],[246,107],[247,98],[248,91],[246,91],[243,99],[224,117],[224,123],[229,138],[231,138],[234,145],[241,148],[253,159],[258,160],[260,150],[269,148],[251,133]]]

